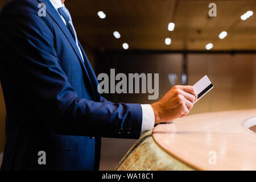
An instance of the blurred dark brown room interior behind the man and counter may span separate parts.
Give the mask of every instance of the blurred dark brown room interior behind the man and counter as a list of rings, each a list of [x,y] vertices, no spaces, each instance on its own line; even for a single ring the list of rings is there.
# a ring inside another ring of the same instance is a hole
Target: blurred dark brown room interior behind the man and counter
[[[0,0],[0,9],[5,2]],[[210,17],[212,2],[217,5],[217,16]],[[256,13],[256,1],[66,0],[65,6],[96,75],[110,75],[110,68],[116,74],[159,73],[159,98],[176,84],[193,85],[208,75],[214,89],[195,104],[191,114],[256,107],[256,16],[241,19],[249,10]],[[175,28],[168,31],[171,22]],[[114,31],[121,34],[119,39]],[[224,39],[218,37],[222,31],[228,32]],[[166,38],[171,39],[170,45]],[[129,48],[124,49],[123,43]],[[213,48],[207,50],[208,43]],[[148,100],[148,94],[104,96],[113,102],[157,101]],[[135,141],[103,138],[100,169],[114,169]],[[1,90],[0,153],[4,143]]]

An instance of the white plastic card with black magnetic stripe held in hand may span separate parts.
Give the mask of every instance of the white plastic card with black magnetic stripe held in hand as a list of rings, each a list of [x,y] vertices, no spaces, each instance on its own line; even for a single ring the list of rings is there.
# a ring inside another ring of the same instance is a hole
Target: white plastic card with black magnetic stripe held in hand
[[[197,101],[200,100],[200,98],[204,97],[205,94],[207,94],[210,90],[213,89],[212,82],[210,82],[207,75],[205,75],[203,78],[201,78],[199,81],[196,82],[193,87],[196,90],[197,94]]]

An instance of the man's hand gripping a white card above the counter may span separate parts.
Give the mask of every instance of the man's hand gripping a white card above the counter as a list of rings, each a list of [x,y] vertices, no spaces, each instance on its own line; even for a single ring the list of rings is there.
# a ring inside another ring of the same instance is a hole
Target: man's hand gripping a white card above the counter
[[[155,124],[170,122],[188,115],[196,100],[197,94],[193,86],[174,86],[160,101],[151,104],[155,114]]]

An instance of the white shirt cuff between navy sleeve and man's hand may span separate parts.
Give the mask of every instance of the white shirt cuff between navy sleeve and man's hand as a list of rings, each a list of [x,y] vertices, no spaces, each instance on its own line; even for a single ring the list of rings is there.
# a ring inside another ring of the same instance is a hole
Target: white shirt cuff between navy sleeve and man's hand
[[[155,114],[150,104],[141,104],[142,107],[142,129],[141,132],[152,130],[155,125]]]

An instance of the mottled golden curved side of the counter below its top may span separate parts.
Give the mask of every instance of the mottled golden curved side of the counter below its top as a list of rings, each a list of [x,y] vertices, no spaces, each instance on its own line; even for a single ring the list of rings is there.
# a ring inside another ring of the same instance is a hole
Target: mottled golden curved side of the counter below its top
[[[152,137],[144,133],[123,156],[117,171],[193,171],[196,170],[168,154]]]

